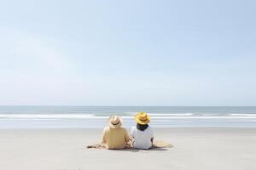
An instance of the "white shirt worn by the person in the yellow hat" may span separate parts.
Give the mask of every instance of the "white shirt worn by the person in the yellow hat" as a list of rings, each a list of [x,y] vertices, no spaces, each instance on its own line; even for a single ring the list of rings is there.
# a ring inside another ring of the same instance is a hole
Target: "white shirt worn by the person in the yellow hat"
[[[144,131],[138,130],[136,126],[131,127],[131,136],[134,139],[133,147],[137,149],[149,149],[152,146],[151,139],[153,131],[150,127]]]

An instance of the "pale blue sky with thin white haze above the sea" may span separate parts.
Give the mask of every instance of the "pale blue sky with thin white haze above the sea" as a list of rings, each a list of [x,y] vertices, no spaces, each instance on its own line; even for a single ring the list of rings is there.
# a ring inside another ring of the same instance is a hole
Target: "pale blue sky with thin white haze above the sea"
[[[256,105],[256,2],[0,2],[0,105]]]

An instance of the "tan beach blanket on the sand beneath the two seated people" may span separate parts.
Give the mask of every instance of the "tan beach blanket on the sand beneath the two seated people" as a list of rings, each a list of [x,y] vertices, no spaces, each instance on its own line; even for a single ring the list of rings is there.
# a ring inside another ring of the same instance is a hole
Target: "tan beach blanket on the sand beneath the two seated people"
[[[155,140],[154,143],[153,143],[153,146],[152,148],[150,149],[154,149],[154,148],[172,148],[173,145],[168,143],[168,142],[165,142],[165,141],[162,141],[162,140]],[[104,144],[90,144],[87,146],[88,149],[90,148],[96,148],[96,149],[106,149],[105,145]],[[131,147],[131,145],[127,144],[125,149],[134,149]]]

